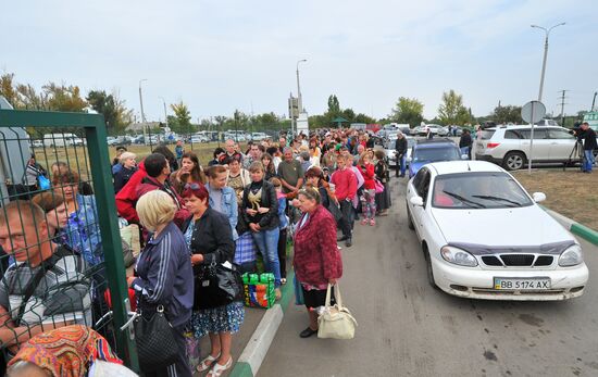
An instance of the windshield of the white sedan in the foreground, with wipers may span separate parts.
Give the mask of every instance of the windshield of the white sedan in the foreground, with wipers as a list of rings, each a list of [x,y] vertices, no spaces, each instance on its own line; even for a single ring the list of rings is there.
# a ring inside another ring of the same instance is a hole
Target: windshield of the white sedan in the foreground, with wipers
[[[532,200],[507,173],[458,173],[435,179],[432,205],[441,209],[504,209],[532,205]]]

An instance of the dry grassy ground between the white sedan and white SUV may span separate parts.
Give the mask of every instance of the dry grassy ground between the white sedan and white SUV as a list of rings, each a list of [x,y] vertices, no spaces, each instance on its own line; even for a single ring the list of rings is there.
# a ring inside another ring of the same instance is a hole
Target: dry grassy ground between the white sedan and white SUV
[[[530,193],[546,193],[543,205],[598,230],[598,171],[534,169],[532,174],[521,171],[513,175]]]

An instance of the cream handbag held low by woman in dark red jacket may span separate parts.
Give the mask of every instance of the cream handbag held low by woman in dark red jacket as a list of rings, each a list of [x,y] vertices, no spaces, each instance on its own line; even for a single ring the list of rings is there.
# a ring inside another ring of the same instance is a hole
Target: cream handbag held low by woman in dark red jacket
[[[331,288],[326,291],[326,304],[324,312],[317,317],[317,338],[353,339],[357,321],[351,312],[342,306],[338,282],[335,286],[336,304],[331,306]]]

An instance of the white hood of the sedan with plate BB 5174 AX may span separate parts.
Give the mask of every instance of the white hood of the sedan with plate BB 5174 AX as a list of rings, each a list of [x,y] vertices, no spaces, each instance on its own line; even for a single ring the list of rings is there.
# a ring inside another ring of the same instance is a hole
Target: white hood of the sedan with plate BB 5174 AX
[[[432,209],[432,214],[447,243],[528,247],[575,240],[537,205],[519,209]]]

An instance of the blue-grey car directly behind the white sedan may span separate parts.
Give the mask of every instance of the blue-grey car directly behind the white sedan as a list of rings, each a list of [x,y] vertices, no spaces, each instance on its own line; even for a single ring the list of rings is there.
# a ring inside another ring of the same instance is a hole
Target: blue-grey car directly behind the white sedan
[[[411,148],[409,163],[409,178],[413,177],[420,168],[431,162],[458,161],[469,159],[469,155],[461,155],[457,144],[450,139],[418,140]]]

